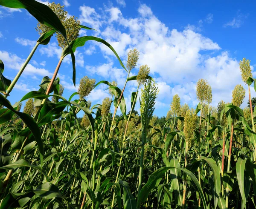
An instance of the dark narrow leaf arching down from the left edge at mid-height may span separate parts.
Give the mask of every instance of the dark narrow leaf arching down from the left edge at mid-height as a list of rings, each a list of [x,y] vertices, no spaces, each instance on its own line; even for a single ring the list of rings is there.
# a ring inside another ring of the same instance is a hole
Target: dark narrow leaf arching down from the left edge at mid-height
[[[26,124],[26,126],[29,128],[29,130],[32,132],[32,134],[34,135],[35,140],[37,142],[38,149],[40,152],[40,158],[41,158],[41,162],[42,162],[43,155],[44,155],[44,143],[41,139],[41,130],[39,129],[34,118],[30,117],[26,113],[16,111],[12,107],[12,105],[9,103],[9,101],[2,94],[0,94],[0,104],[7,107],[10,110],[12,110],[12,112],[16,113],[21,118],[21,120],[23,120],[23,122]]]

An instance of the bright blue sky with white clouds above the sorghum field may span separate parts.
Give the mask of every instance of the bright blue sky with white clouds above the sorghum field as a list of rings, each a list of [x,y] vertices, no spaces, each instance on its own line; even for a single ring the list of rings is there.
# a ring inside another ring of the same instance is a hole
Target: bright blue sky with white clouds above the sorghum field
[[[179,94],[182,104],[195,107],[198,104],[195,84],[200,78],[207,79],[212,86],[213,106],[220,100],[230,102],[234,86],[242,84],[246,88],[241,80],[239,60],[243,57],[252,60],[252,70],[256,64],[253,59],[256,3],[253,1],[56,0],[55,3],[64,4],[69,15],[96,29],[81,30],[80,35],[105,39],[124,64],[130,49],[140,51],[138,66],[131,74],[136,75],[140,65],[151,68],[150,75],[159,88],[155,109],[158,116],[167,114],[175,94]],[[11,80],[39,37],[36,25],[37,21],[26,10],[0,7],[0,59],[5,64],[4,76]],[[31,90],[38,90],[44,76],[52,77],[60,54],[55,37],[47,46],[39,46],[8,97],[11,103]],[[76,68],[76,88],[85,75],[96,82],[116,80],[119,88],[126,78],[116,57],[100,43],[88,42],[76,51]],[[70,57],[65,57],[58,77],[65,87],[64,97],[69,97],[76,91]],[[128,110],[131,92],[136,87],[136,81],[128,82],[126,87]],[[93,104],[101,103],[110,97],[105,89],[104,85],[97,87],[87,99]],[[256,96],[254,89],[252,92]],[[242,107],[247,106],[247,100],[248,96]],[[136,108],[139,109],[138,104]]]

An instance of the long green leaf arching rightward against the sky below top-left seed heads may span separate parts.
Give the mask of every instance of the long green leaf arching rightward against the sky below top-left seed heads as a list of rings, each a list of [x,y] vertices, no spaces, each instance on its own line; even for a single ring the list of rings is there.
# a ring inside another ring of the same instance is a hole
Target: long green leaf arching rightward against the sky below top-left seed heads
[[[115,49],[113,49],[113,47],[108,42],[106,42],[105,40],[103,40],[101,38],[97,38],[97,37],[93,37],[93,36],[84,36],[84,37],[79,37],[76,40],[71,41],[69,44],[70,44],[72,51],[75,52],[77,47],[84,46],[85,42],[87,42],[88,40],[95,40],[95,41],[101,42],[101,43],[105,44],[106,46],[108,46],[108,48],[111,49],[111,51],[116,55],[121,66],[125,69],[125,66],[122,63],[121,59],[119,58],[118,54],[116,53]],[[68,46],[66,46],[66,48],[63,49],[62,57],[66,57],[67,54],[70,54],[70,50],[68,49]],[[127,72],[127,70],[126,70],[126,72]]]

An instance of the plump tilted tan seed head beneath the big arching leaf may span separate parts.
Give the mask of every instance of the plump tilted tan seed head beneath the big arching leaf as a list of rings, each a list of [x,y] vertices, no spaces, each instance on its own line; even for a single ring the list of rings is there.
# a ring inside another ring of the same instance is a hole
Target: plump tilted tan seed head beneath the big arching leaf
[[[80,80],[80,85],[78,87],[78,94],[80,98],[87,97],[95,86],[95,79],[91,79],[88,76],[84,76]]]

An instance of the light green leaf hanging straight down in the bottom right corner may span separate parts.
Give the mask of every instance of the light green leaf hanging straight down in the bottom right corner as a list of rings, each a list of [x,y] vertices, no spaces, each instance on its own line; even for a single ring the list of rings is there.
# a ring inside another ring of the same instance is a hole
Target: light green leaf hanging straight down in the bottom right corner
[[[240,194],[242,197],[242,206],[241,209],[246,208],[246,200],[247,197],[245,195],[245,186],[244,186],[244,169],[245,169],[245,163],[247,159],[241,159],[240,157],[237,160],[236,163],[236,177],[239,185]]]

